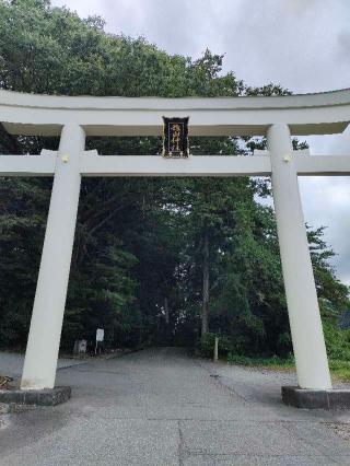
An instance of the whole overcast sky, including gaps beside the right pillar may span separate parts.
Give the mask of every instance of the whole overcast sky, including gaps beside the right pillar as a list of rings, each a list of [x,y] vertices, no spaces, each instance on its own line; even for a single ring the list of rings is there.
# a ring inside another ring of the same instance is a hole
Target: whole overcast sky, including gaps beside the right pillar
[[[106,31],[142,35],[170,54],[224,54],[224,70],[247,84],[294,93],[350,88],[350,0],[52,0]],[[349,154],[350,130],[308,138],[314,154]],[[339,278],[350,284],[350,179],[300,179],[305,221],[328,226]]]

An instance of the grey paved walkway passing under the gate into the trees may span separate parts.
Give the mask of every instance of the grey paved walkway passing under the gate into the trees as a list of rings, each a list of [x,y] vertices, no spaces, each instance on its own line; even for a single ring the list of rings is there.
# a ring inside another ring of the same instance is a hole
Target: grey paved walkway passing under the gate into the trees
[[[291,382],[166,348],[62,369],[72,399],[3,416],[0,465],[349,465],[349,416],[283,406]]]

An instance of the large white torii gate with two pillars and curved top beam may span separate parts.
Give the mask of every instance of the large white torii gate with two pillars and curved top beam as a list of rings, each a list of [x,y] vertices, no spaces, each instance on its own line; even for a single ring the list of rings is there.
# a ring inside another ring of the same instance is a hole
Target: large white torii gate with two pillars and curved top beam
[[[104,156],[85,136],[160,136],[162,116],[189,116],[190,136],[266,135],[253,156]],[[301,388],[331,388],[298,176],[349,175],[348,156],[293,152],[291,135],[342,132],[350,90],[234,98],[68,97],[0,91],[12,135],[59,136],[58,152],[0,155],[1,176],[54,176],[22,389],[52,388],[82,176],[271,176],[282,270]]]

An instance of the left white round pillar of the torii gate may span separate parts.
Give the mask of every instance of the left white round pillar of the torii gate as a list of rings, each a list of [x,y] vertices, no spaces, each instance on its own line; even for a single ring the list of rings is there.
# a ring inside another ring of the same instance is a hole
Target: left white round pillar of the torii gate
[[[22,374],[22,389],[54,388],[74,241],[85,133],[63,126]]]

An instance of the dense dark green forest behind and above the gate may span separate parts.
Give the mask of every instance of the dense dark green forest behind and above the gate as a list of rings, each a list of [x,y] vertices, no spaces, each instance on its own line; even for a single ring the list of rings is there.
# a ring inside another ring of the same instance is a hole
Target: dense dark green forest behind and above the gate
[[[46,0],[0,0],[0,88],[66,95],[287,95],[222,71],[223,56],[170,56],[144,38],[104,32]],[[196,154],[243,154],[262,138],[191,138]],[[294,147],[305,143],[294,140]],[[160,138],[89,138],[101,154],[154,154]],[[0,129],[0,153],[38,154],[58,140]],[[0,182],[0,346],[26,343],[51,179]],[[194,346],[220,334],[221,350],[291,352],[270,180],[255,178],[83,179],[62,349],[105,329],[106,346]],[[349,306],[323,229],[308,229],[322,313]],[[43,329],[45,331],[45,329]]]

